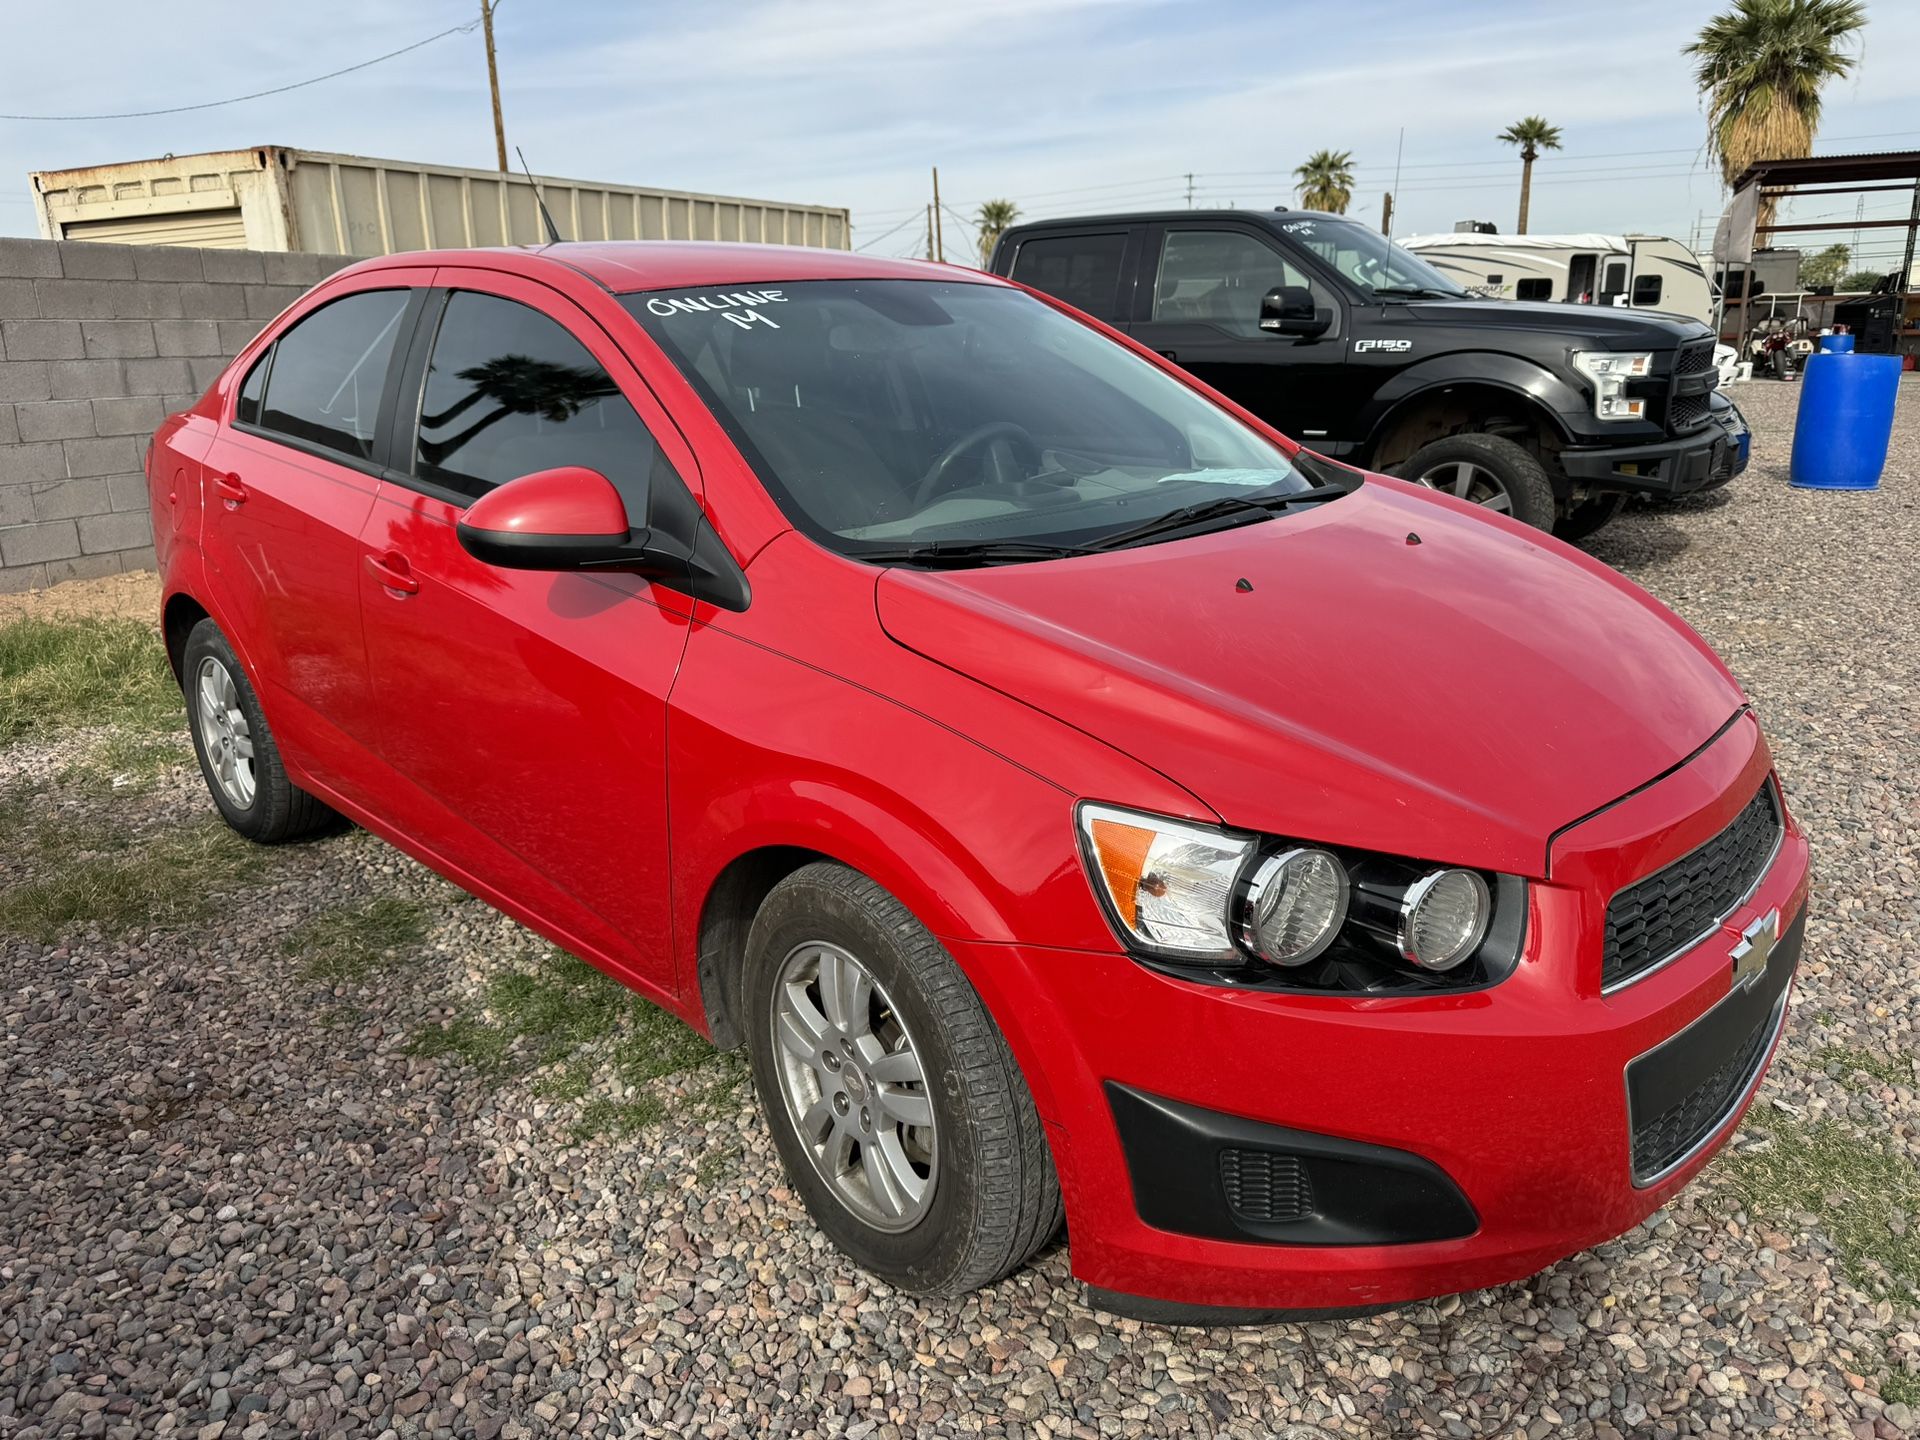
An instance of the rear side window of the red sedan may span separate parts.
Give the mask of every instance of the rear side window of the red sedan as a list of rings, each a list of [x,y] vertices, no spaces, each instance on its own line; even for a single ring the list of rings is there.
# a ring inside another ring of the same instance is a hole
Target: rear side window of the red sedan
[[[380,392],[407,298],[405,290],[363,290],[323,305],[282,334],[273,348],[273,374],[253,367],[253,374],[267,378],[261,428],[371,461]],[[250,374],[240,419],[252,384]]]

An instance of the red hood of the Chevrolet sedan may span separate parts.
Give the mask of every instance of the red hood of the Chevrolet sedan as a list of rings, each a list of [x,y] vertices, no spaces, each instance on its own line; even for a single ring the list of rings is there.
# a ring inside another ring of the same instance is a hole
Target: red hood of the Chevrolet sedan
[[[1154,766],[1231,826],[1526,876],[1553,831],[1743,705],[1613,570],[1375,476],[1112,555],[891,568],[876,605],[899,645]]]

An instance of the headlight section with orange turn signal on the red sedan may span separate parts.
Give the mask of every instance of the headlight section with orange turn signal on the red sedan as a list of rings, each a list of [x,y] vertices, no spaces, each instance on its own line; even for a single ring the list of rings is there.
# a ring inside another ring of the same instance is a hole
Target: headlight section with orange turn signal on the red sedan
[[[1129,939],[1190,960],[1236,956],[1227,900],[1252,837],[1104,804],[1083,804],[1079,822],[1087,868]]]

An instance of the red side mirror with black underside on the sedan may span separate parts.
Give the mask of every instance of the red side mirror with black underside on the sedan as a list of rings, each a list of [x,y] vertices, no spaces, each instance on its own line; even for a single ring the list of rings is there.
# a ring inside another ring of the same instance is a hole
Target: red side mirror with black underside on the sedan
[[[503,570],[664,572],[612,480],[582,465],[534,470],[490,490],[459,522],[461,547]]]

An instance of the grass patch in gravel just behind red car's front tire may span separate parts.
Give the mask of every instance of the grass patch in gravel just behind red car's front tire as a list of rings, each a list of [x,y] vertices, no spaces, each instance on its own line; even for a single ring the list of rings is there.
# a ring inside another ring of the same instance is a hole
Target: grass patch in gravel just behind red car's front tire
[[[582,1100],[574,1139],[634,1135],[664,1116],[651,1081],[714,1066],[720,1054],[674,1016],[563,950],[488,981],[486,1018],[459,1016],[413,1041],[413,1054],[457,1056],[490,1079],[545,1071],[536,1091]],[[737,1087],[737,1066],[716,1066]],[[603,1075],[630,1096],[591,1094]],[[708,1087],[712,1091],[714,1087]],[[637,1094],[632,1094],[637,1091]]]

